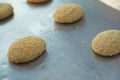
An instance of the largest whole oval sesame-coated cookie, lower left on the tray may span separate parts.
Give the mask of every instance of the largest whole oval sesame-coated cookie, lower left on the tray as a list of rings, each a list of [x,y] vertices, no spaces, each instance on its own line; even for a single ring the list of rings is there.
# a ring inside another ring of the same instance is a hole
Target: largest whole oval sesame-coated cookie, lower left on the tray
[[[14,42],[8,50],[8,59],[13,63],[29,62],[40,56],[46,49],[43,39],[28,36]]]

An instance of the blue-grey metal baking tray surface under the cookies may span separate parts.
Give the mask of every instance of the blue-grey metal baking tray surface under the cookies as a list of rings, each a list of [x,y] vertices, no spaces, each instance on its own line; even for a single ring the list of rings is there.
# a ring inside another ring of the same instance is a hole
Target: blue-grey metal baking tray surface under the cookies
[[[96,0],[52,0],[29,5],[26,0],[0,0],[14,6],[14,16],[0,22],[0,80],[119,80],[120,56],[105,58],[91,50],[92,38],[107,29],[120,29],[120,12]],[[53,20],[55,9],[66,3],[84,8],[73,24]],[[27,64],[12,64],[7,52],[18,38],[35,35],[46,40],[44,55]]]

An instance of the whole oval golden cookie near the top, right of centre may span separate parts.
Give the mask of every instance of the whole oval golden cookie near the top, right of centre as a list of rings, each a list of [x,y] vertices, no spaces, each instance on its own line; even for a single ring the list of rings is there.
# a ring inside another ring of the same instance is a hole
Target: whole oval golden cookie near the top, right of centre
[[[83,16],[83,8],[78,4],[60,6],[53,17],[59,23],[73,23]]]

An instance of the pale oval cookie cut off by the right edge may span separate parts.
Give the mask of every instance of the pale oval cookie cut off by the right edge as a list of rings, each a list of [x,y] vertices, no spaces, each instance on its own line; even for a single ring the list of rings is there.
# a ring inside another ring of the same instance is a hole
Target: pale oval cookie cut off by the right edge
[[[120,30],[107,30],[99,33],[92,41],[92,49],[102,56],[120,53]]]

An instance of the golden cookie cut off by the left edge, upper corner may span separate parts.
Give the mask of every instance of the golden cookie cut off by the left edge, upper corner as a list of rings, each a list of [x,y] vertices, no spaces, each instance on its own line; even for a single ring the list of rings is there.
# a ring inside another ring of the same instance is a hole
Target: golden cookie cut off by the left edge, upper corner
[[[0,20],[13,14],[13,7],[9,3],[0,3]]]

